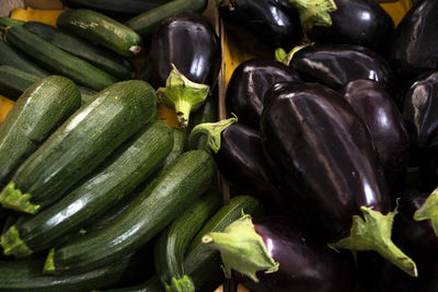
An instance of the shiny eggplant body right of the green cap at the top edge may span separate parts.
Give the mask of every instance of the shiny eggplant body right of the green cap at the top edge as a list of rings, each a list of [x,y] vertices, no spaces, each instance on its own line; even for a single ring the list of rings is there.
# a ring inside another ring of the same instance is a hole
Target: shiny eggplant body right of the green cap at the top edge
[[[316,43],[351,44],[385,51],[395,26],[390,14],[373,0],[335,0],[331,26],[313,26],[308,33]]]

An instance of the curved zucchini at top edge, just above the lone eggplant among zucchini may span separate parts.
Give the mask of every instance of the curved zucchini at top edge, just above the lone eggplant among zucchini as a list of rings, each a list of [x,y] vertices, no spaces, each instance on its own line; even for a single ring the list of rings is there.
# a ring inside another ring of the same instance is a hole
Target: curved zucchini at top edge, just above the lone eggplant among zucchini
[[[178,12],[201,12],[207,7],[207,0],[173,0],[158,8],[146,11],[127,22],[129,26],[142,37],[150,36],[155,28],[168,17]]]

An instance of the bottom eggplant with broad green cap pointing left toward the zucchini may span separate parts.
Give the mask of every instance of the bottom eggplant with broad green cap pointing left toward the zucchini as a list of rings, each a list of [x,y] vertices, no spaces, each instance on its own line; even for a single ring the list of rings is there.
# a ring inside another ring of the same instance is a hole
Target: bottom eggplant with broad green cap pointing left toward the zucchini
[[[232,270],[252,292],[351,291],[354,261],[315,241],[287,217],[243,215],[203,242],[221,252],[226,276]]]

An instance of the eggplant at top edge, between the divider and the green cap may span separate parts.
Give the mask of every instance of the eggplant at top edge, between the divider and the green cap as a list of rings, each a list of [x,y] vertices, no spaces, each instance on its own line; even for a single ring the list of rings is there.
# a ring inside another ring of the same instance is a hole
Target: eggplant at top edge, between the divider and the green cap
[[[287,0],[222,0],[227,31],[247,48],[291,49],[302,37],[298,10]]]

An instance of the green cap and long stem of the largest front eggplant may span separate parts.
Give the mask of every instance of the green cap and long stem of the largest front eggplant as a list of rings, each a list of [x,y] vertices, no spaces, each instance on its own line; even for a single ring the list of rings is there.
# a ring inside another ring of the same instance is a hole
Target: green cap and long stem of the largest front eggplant
[[[374,250],[393,265],[412,277],[417,277],[417,267],[391,240],[391,230],[396,208],[393,212],[382,214],[371,208],[360,208],[364,218],[353,217],[349,237],[328,244],[330,247],[346,248],[351,250]]]

